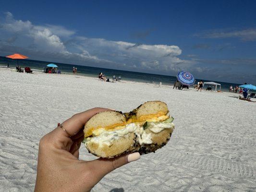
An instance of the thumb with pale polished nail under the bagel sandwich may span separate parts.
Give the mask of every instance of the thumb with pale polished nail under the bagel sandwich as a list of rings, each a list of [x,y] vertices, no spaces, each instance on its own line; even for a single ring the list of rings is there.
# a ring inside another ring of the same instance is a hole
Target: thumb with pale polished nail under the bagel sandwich
[[[93,161],[87,161],[86,166],[89,166],[93,170],[93,174],[96,175],[96,177],[100,180],[105,175],[110,173],[116,168],[119,168],[127,163],[130,163],[132,161],[136,161],[140,158],[140,154],[138,152],[132,153],[129,155],[123,155],[120,157],[112,158],[112,159],[96,159]]]

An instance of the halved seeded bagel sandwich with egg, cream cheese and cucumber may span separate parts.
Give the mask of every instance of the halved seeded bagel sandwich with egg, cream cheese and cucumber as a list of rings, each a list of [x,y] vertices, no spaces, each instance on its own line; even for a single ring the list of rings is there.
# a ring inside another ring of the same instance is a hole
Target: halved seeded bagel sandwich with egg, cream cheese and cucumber
[[[104,111],[85,123],[83,143],[89,153],[102,158],[147,154],[167,144],[174,129],[172,121],[161,101],[148,101],[128,113]]]

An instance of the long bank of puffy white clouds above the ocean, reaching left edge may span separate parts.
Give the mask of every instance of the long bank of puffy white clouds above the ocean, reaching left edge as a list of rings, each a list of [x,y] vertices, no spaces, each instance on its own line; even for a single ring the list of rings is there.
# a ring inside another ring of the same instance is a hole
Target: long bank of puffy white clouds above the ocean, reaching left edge
[[[74,30],[63,26],[16,20],[10,12],[0,21],[0,40],[3,42],[0,46],[8,46],[12,52],[23,50],[32,59],[41,60],[48,55],[49,59],[58,62],[65,60],[65,63],[167,74],[193,64],[178,58],[182,54],[178,46],[76,36]]]

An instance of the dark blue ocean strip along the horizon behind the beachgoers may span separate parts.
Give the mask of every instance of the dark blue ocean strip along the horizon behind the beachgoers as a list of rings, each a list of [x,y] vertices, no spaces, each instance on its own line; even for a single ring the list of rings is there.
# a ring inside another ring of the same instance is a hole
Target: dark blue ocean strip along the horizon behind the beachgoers
[[[17,60],[12,60],[6,57],[0,57],[0,65],[7,66],[9,63],[10,67],[15,67],[17,64]],[[47,64],[52,62],[47,61],[39,61],[39,60],[19,60],[19,66],[30,67],[31,70],[39,70],[43,71]],[[56,63],[58,65],[58,70],[61,70],[61,73],[66,74],[73,74],[73,67],[77,68],[77,75],[83,75],[88,77],[98,77],[99,72],[103,72],[105,76],[112,79],[112,76],[115,75],[116,77],[121,76],[122,80],[124,81],[134,81],[134,82],[142,82],[142,83],[150,83],[150,84],[159,84],[160,82],[163,85],[173,85],[176,81],[175,76],[167,76],[167,75],[158,75],[158,74],[149,74],[149,73],[142,73],[142,72],[129,72],[129,71],[122,71],[122,70],[114,70],[114,69],[105,69],[105,68],[97,68],[97,67],[87,67],[81,65],[71,65],[71,64],[64,64],[64,63]],[[195,84],[201,79],[196,79]],[[203,80],[203,82],[210,82],[211,80]],[[226,83],[226,82],[218,82],[216,83],[221,84],[222,91],[228,91],[230,85],[233,87],[239,84],[233,83]]]

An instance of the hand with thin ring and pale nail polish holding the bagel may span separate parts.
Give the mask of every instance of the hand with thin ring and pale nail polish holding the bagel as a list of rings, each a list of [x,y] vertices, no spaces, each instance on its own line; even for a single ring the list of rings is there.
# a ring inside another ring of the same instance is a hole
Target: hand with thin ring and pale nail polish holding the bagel
[[[83,127],[93,115],[107,108],[93,108],[73,115],[39,143],[35,192],[89,192],[106,174],[140,158],[139,153],[112,159],[79,160]]]

